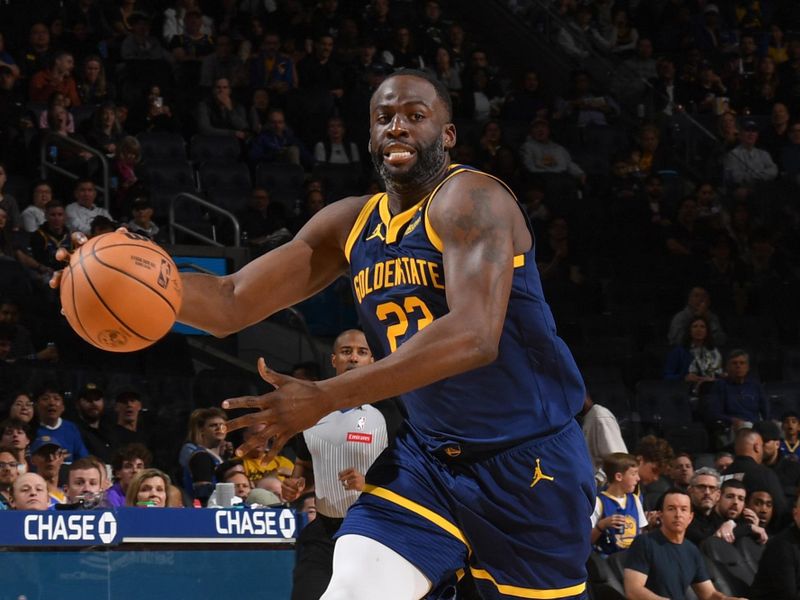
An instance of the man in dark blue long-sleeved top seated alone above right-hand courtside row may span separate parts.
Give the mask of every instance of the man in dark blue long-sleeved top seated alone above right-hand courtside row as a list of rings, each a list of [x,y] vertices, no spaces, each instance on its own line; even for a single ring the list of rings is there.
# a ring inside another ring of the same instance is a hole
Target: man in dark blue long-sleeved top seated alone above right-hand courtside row
[[[734,432],[769,418],[769,405],[761,385],[750,377],[750,356],[744,350],[731,350],[726,376],[711,388],[711,418]]]

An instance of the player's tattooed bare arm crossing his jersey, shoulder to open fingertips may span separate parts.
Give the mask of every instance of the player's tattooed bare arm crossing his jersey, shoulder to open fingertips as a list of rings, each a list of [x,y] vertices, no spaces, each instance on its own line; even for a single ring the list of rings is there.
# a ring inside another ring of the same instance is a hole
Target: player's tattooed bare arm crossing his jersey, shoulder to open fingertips
[[[279,389],[223,404],[224,408],[262,409],[229,422],[229,429],[267,423],[259,439],[250,442],[255,445],[275,437],[274,451],[334,410],[397,396],[495,360],[511,293],[514,255],[527,251],[532,243],[522,212],[496,181],[464,174],[443,186],[429,218],[443,243],[449,312],[386,358],[325,381],[298,381],[267,369],[260,361],[262,376]],[[246,452],[248,444],[240,450]]]

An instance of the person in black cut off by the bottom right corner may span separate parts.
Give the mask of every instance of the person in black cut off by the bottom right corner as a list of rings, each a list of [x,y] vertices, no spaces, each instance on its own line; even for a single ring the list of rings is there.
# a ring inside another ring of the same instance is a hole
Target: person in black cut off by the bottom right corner
[[[796,598],[800,592],[800,496],[792,508],[792,524],[772,537],[758,561],[751,600]]]

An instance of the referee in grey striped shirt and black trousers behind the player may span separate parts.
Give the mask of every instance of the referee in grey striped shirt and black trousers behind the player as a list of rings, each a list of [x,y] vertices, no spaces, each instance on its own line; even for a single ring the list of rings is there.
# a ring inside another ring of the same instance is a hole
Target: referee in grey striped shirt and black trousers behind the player
[[[373,362],[364,333],[349,329],[333,343],[337,375]],[[293,502],[314,490],[317,518],[297,539],[292,600],[319,600],[331,579],[333,536],[364,489],[364,474],[402,423],[395,400],[364,404],[323,417],[293,440],[297,460],[281,495]]]

